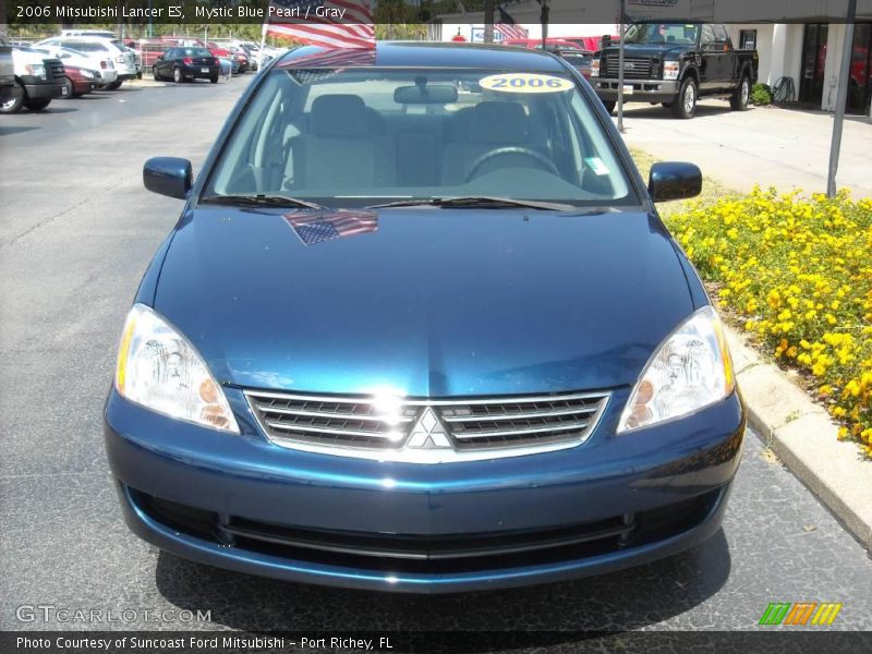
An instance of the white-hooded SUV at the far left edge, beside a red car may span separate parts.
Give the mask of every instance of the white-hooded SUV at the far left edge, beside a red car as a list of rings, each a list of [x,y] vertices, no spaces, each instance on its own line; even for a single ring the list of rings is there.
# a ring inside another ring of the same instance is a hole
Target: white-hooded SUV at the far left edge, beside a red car
[[[26,107],[41,111],[55,98],[66,94],[63,64],[28,47],[12,48],[15,87],[12,97],[0,106],[0,113],[17,113]]]

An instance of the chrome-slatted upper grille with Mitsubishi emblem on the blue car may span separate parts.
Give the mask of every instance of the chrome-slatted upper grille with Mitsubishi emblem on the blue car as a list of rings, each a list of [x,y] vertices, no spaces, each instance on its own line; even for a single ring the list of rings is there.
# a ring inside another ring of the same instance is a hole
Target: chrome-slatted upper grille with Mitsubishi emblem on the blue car
[[[518,456],[586,440],[608,393],[426,400],[247,390],[267,438],[348,457],[444,462]]]

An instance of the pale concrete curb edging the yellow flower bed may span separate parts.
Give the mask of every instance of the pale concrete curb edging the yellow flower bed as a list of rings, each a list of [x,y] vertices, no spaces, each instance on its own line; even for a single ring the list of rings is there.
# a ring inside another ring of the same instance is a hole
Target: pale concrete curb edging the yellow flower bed
[[[726,326],[748,420],[768,447],[872,556],[872,461],[780,368]]]

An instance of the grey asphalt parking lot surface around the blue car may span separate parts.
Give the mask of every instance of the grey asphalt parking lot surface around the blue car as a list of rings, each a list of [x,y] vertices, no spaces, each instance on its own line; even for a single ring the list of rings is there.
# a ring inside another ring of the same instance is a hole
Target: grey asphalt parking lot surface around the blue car
[[[753,630],[771,602],[839,602],[833,629],[872,629],[872,560],[753,434],[718,534],[571,583],[445,597],[319,589],[187,562],[130,534],[100,414],[124,315],[181,209],[143,189],[142,165],[183,156],[196,170],[250,80],[125,85],[0,117],[0,629]],[[37,604],[138,617],[16,617]],[[165,609],[211,620],[148,620]]]

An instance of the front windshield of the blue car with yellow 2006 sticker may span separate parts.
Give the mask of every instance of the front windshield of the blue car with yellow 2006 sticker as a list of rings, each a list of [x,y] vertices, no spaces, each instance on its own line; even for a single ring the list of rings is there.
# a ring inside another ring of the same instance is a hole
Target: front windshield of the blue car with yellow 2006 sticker
[[[568,75],[447,69],[276,66],[207,180],[221,195],[640,203]]]

